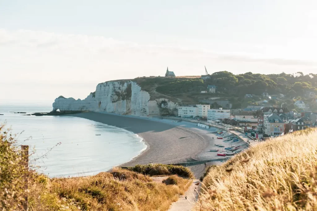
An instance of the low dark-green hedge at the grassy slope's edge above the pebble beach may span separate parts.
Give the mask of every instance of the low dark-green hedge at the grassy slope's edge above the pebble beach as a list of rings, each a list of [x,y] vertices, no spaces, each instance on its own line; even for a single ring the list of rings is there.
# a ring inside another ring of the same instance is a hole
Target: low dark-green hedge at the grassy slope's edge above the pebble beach
[[[136,165],[131,168],[132,171],[140,174],[157,176],[157,175],[178,175],[180,177],[194,178],[193,173],[187,167],[181,165],[166,165],[166,164],[148,164]]]

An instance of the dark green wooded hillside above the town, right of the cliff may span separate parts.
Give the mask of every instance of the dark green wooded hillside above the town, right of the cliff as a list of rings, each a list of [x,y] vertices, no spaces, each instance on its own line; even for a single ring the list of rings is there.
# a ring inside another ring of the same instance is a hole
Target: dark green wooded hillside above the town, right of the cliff
[[[200,78],[165,77],[135,78],[133,81],[137,82],[142,90],[149,92],[152,99],[165,97],[180,104],[195,104],[202,99],[221,97],[222,99],[218,100],[230,100],[233,104],[232,108],[239,109],[266,100],[262,97],[262,93],[267,92],[271,96],[279,97],[279,94],[283,94],[286,98],[301,99],[311,108],[317,109],[316,97],[309,96],[310,92],[317,94],[316,76],[313,73],[304,75],[301,72],[270,75],[247,72],[234,75],[228,71],[220,71],[211,74],[210,79],[206,81]],[[217,93],[200,94],[199,91],[207,90],[208,85],[217,86]],[[244,98],[246,94],[251,94],[253,97]],[[272,106],[281,106],[282,103],[286,103],[285,106],[289,109],[294,107],[294,102],[285,102],[285,98],[268,102]]]

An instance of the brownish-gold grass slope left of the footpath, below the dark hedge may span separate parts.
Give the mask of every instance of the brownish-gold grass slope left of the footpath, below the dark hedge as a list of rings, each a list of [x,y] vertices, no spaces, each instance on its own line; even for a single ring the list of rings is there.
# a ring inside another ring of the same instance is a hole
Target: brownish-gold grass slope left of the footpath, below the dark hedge
[[[174,184],[115,168],[91,177],[53,178],[39,175],[30,187],[30,210],[167,210],[191,184],[171,176]]]

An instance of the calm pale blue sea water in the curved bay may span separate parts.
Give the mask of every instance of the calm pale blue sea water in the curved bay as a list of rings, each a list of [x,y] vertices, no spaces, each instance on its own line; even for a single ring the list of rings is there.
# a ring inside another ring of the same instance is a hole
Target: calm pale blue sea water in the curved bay
[[[26,116],[14,112],[49,112],[51,105],[0,104],[0,123],[6,121],[21,144],[35,147],[38,171],[50,177],[86,176],[125,163],[146,148],[136,134],[72,116]],[[96,134],[100,134],[96,136]],[[61,142],[61,145],[55,146]]]

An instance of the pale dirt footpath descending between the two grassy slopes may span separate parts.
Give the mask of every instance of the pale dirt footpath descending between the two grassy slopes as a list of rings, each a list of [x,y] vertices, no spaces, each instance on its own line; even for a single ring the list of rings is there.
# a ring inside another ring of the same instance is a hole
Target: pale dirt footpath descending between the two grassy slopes
[[[199,183],[199,185],[197,185],[197,183]],[[172,203],[169,211],[190,211],[199,197],[198,192],[200,189],[201,182],[198,179],[194,179],[185,194],[181,195],[177,202]]]

